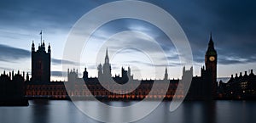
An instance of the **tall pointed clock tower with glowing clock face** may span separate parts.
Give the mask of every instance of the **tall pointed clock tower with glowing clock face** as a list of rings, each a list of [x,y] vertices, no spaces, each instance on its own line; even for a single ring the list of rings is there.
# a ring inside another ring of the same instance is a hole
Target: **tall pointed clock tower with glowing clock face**
[[[209,81],[207,82],[211,82],[212,98],[215,98],[217,95],[217,52],[212,41],[212,34],[205,55],[205,64],[206,70],[209,73]]]

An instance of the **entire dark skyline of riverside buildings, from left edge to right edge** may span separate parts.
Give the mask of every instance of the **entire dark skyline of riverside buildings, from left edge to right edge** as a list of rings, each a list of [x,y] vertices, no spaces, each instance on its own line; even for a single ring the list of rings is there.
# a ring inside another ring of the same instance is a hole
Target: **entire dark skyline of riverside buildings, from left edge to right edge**
[[[47,48],[47,50],[46,50]],[[177,89],[180,80],[170,80],[168,77],[167,69],[163,71],[162,80],[137,80],[131,75],[131,68],[127,70],[121,69],[121,76],[111,74],[111,64],[108,58],[108,49],[106,49],[105,60],[103,64],[99,64],[97,67],[98,77],[89,77],[88,71],[85,68],[83,77],[79,78],[78,70],[67,70],[67,81],[50,81],[50,66],[51,66],[51,47],[47,47],[45,43],[41,42],[38,45],[38,49],[34,42],[32,42],[32,77],[29,78],[28,73],[14,74],[14,71],[6,74],[5,71],[0,76],[0,104],[6,102],[12,102],[15,100],[26,99],[68,99],[71,96],[79,98],[93,98],[99,99],[143,99],[143,98],[165,98],[172,100],[175,98],[187,98],[191,100],[197,99],[219,99],[219,98],[256,98],[256,76],[253,74],[253,70],[249,75],[240,75],[239,77],[230,78],[230,81],[224,83],[223,81],[217,81],[217,65],[218,65],[218,53],[214,48],[214,42],[212,35],[208,42],[207,52],[205,54],[205,66],[201,68],[201,76],[194,76],[189,87],[187,95],[183,92],[183,85]],[[183,68],[183,75],[186,73],[193,73],[193,68],[185,70]],[[100,82],[101,81],[101,82]],[[102,86],[108,86],[113,92]],[[162,90],[165,86],[165,81],[170,82],[167,92]],[[131,87],[120,87],[116,84],[123,85],[127,82],[131,82]],[[129,92],[133,86],[135,90]],[[156,84],[157,91],[148,95],[151,91],[152,85]],[[65,85],[69,85],[67,89]],[[83,86],[87,86],[88,90],[84,90]],[[163,93],[164,92],[164,93]],[[177,92],[177,94],[175,94]]]

